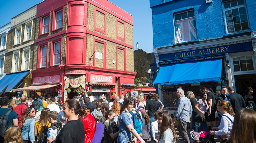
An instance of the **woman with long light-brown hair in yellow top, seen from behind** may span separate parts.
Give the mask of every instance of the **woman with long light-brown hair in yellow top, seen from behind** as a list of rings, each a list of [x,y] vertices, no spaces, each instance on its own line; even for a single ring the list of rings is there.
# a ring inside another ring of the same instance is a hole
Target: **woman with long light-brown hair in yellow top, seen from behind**
[[[44,108],[41,111],[40,119],[35,122],[34,133],[35,133],[35,136],[37,136],[37,142],[40,142],[46,139],[46,138],[41,138],[41,134],[44,131],[44,135],[47,135],[47,130],[51,126],[51,123],[49,123],[48,121],[49,111],[50,111],[49,108]]]

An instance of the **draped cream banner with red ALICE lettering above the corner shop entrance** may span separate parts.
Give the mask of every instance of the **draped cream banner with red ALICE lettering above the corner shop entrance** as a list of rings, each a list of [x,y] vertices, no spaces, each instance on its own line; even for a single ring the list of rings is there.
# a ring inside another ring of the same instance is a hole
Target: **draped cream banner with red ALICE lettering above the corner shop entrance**
[[[65,86],[64,89],[67,89],[69,87],[69,85],[71,85],[72,87],[83,87],[85,89],[85,79],[86,77],[84,75],[74,78],[70,75],[67,75],[64,77],[65,80]]]

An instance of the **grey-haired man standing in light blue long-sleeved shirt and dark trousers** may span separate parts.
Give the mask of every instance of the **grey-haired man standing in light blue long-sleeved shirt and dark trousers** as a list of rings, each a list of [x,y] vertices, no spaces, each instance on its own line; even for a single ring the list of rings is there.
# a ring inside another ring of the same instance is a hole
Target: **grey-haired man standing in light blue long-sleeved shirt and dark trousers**
[[[189,115],[192,115],[192,105],[190,100],[184,96],[184,90],[181,87],[177,89],[176,94],[179,98],[179,102],[178,110],[174,117],[174,122],[176,119],[179,121],[177,129],[185,143],[189,143],[189,137],[187,135],[187,123],[189,122]]]

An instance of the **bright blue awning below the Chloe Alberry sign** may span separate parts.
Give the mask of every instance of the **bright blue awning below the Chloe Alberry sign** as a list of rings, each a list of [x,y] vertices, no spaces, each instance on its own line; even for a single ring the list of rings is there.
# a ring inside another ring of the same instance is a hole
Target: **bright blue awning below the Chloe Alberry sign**
[[[153,84],[178,85],[221,81],[222,59],[162,65]]]

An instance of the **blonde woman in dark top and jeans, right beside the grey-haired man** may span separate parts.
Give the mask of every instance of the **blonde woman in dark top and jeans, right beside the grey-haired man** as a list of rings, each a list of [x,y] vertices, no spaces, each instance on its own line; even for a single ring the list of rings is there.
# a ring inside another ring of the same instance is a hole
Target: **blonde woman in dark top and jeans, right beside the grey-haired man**
[[[190,100],[190,103],[192,105],[192,115],[191,115],[191,122],[192,122],[192,127],[194,129],[195,132],[198,132],[198,124],[196,122],[196,115],[198,113],[197,109],[195,108],[196,104],[197,104],[197,99],[195,98],[195,95],[192,91],[188,91],[187,92],[187,97]]]

